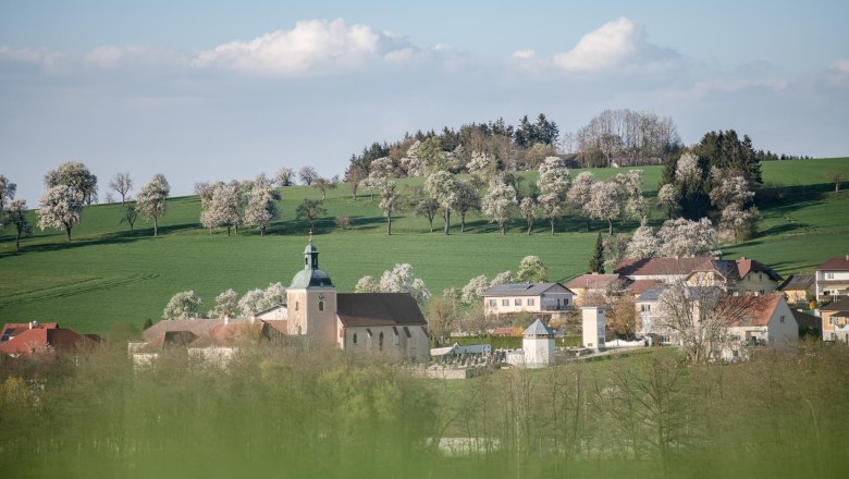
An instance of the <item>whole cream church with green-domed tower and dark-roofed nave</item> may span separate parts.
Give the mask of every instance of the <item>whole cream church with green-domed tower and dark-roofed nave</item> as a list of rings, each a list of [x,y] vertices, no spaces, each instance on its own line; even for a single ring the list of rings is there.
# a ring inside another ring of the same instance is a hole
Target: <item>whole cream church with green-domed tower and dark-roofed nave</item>
[[[307,345],[336,345],[345,351],[376,352],[407,359],[430,355],[428,323],[407,293],[337,293],[319,268],[310,240],[304,269],[286,291],[286,330]]]

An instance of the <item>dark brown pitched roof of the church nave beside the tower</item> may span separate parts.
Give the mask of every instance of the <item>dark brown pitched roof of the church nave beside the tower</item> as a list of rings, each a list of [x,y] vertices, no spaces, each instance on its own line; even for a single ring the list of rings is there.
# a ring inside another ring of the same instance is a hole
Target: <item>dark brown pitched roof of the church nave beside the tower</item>
[[[428,323],[416,299],[408,293],[339,294],[336,316],[346,328]]]

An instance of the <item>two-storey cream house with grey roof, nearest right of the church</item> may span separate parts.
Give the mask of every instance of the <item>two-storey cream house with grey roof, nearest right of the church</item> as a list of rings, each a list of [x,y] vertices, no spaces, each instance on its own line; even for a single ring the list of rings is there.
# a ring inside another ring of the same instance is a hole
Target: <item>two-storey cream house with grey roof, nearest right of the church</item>
[[[512,316],[522,311],[556,317],[571,307],[575,293],[561,283],[505,283],[483,292],[487,316]]]

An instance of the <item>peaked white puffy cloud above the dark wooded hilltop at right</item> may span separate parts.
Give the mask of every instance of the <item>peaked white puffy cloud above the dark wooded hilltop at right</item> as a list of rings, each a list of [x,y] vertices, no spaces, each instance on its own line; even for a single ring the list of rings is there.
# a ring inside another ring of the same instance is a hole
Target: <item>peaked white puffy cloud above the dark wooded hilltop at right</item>
[[[585,35],[569,51],[555,53],[555,66],[577,73],[625,67],[656,72],[680,63],[674,50],[650,44],[645,30],[626,17],[607,22]]]

